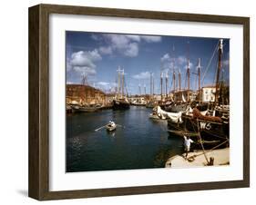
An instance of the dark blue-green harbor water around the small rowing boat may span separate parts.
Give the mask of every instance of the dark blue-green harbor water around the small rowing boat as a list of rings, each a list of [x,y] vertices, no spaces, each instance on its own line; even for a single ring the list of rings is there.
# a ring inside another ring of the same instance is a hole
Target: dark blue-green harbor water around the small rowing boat
[[[183,152],[183,140],[169,136],[166,121],[148,118],[152,109],[67,114],[66,169],[110,171],[163,168],[169,157]],[[114,121],[116,131],[97,128]]]

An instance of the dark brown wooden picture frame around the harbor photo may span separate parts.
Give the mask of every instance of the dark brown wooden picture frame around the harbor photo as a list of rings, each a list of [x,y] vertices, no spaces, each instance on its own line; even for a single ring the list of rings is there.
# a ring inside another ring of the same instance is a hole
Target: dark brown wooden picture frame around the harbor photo
[[[217,181],[91,190],[49,190],[49,15],[99,15],[243,26],[243,180]],[[60,200],[146,194],[169,191],[214,190],[250,186],[250,18],[192,15],[69,5],[29,8],[29,183],[36,200]]]

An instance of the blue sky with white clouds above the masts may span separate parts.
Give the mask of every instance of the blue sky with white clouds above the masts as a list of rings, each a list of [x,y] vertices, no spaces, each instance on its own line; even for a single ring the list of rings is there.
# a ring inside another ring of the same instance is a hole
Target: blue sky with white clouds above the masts
[[[190,87],[197,89],[197,64],[201,62],[203,85],[215,82],[217,53],[211,56],[220,39],[182,36],[153,36],[137,34],[103,34],[66,32],[67,83],[81,83],[82,75],[87,82],[103,91],[114,91],[118,66],[125,70],[126,85],[131,94],[138,93],[138,85],[149,93],[149,76],[153,73],[155,93],[160,93],[160,73],[169,75],[172,85],[173,69],[181,73],[184,88],[189,58]],[[230,41],[223,40],[223,66],[221,78],[229,82]],[[208,68],[208,69],[207,69]],[[206,73],[205,71],[208,70]],[[204,74],[205,73],[205,74]],[[178,85],[178,75],[176,76]]]

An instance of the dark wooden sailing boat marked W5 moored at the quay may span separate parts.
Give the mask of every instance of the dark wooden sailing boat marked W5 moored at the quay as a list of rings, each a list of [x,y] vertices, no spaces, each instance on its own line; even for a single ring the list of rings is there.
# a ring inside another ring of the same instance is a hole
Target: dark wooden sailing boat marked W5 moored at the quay
[[[216,112],[216,107],[220,105],[220,101],[218,99],[220,99],[219,77],[222,65],[222,54],[223,40],[220,39],[218,49],[218,70],[216,76],[216,93],[213,109],[211,111],[208,111],[208,115],[204,115],[197,108],[194,108],[192,112],[182,114],[181,122],[177,123],[171,122],[171,120],[169,120],[168,130],[170,133],[180,135],[182,137],[184,135],[195,137],[196,139],[199,139],[200,137],[200,139],[202,139],[205,143],[217,142],[226,145],[229,143],[229,116],[227,117],[224,116],[221,112]]]

